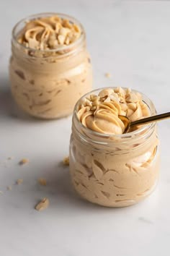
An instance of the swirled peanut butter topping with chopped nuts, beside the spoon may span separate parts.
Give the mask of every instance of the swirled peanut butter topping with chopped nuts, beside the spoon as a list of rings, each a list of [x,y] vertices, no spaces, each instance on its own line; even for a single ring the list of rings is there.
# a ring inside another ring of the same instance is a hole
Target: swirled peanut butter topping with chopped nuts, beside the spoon
[[[99,95],[91,94],[84,98],[77,112],[85,127],[108,135],[120,135],[125,131],[119,115],[135,121],[150,116],[150,111],[140,93],[130,89],[107,88],[100,91]]]

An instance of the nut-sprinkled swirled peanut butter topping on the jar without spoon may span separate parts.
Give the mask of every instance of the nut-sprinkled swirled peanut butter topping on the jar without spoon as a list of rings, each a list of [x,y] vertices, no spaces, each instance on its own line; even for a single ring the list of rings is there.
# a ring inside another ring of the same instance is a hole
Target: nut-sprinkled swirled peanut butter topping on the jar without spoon
[[[79,25],[58,16],[51,16],[28,21],[17,40],[32,49],[50,50],[68,46],[80,35]]]

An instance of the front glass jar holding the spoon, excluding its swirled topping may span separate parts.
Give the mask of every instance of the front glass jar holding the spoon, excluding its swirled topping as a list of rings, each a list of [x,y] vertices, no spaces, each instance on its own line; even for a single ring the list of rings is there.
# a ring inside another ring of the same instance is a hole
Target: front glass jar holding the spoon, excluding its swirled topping
[[[104,135],[84,127],[76,114],[79,104],[83,98],[98,95],[101,90],[87,93],[74,108],[71,180],[79,195],[90,202],[107,207],[133,205],[150,195],[158,180],[160,159],[156,123],[122,135]],[[151,115],[155,115],[151,100],[141,95]]]

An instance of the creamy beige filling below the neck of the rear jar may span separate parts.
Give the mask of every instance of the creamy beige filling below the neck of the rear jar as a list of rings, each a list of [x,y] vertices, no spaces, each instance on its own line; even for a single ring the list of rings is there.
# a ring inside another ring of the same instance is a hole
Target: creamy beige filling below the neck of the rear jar
[[[89,54],[84,51],[77,57],[56,59],[52,64],[40,61],[43,65],[12,60],[10,80],[15,101],[32,116],[45,119],[68,116],[76,101],[91,90]]]

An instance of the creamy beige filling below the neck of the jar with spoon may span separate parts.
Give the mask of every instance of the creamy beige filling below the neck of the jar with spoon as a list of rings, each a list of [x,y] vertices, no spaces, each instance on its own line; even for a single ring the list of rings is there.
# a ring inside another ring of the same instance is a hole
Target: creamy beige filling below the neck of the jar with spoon
[[[71,177],[86,200],[122,207],[142,200],[154,189],[159,171],[157,140],[146,153],[134,157],[133,151],[127,155],[117,155],[116,150],[97,152],[72,139]]]

